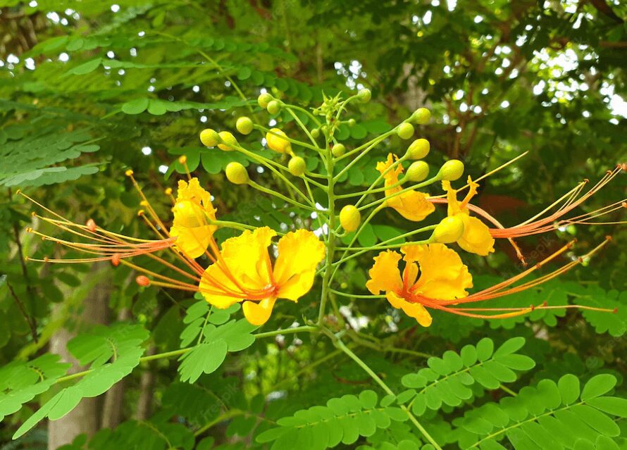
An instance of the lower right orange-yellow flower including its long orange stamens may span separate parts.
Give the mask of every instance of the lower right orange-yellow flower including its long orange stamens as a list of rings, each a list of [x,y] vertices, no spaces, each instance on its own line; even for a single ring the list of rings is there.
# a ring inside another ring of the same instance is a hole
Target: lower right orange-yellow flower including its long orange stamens
[[[609,242],[609,239],[606,239],[583,257],[576,258],[574,261],[566,263],[561,268],[553,270],[547,275],[542,275],[535,280],[513,286],[516,282],[530,275],[530,273],[571,249],[573,242],[570,242],[559,249],[559,251],[545,258],[545,260],[535,264],[533,268],[525,270],[519,273],[519,275],[515,275],[497,285],[469,295],[466,289],[472,287],[472,277],[468,273],[468,268],[461,262],[461,258],[455,251],[447,248],[444,244],[408,245],[401,247],[405,262],[402,274],[399,270],[401,255],[396,251],[383,251],[378,256],[375,256],[375,263],[368,271],[370,280],[366,282],[366,288],[375,295],[385,292],[387,301],[394,308],[402,309],[404,313],[415,318],[423,327],[428,327],[432,323],[428,308],[484,319],[509,318],[530,313],[535,309],[580,308],[609,312],[612,310],[580,305],[547,306],[546,304],[541,304],[530,305],[526,308],[464,307],[464,304],[490,301],[538,286],[542,282],[551,280],[590,258],[602,249],[607,242]]]

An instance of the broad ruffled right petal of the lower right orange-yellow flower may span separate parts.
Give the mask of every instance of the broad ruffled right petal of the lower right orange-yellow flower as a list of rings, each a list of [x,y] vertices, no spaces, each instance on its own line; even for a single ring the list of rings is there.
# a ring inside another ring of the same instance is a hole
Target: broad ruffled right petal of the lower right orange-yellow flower
[[[473,277],[466,265],[444,244],[404,246],[401,251],[407,263],[415,261],[420,266],[420,277],[411,287],[415,294],[454,300],[468,295],[466,289],[473,287]]]

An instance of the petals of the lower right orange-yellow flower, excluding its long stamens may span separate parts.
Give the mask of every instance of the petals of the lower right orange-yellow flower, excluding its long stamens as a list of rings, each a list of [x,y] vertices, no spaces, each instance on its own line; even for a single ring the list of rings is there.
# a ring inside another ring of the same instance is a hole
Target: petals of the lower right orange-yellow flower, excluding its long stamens
[[[398,267],[401,255],[382,251],[368,271],[366,287],[373,294],[385,292],[394,308],[428,327],[432,318],[425,306],[454,304],[454,300],[468,295],[466,289],[473,287],[473,277],[459,255],[444,244],[407,245],[401,251],[405,255],[402,276]]]

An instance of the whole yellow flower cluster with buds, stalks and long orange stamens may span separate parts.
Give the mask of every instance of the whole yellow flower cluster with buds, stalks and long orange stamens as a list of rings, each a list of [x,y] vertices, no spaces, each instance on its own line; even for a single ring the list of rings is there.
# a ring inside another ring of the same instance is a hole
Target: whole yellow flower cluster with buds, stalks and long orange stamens
[[[354,126],[355,120],[342,120],[342,113],[350,102],[366,102],[370,98],[368,89],[362,89],[347,99],[325,96],[321,106],[308,111],[285,104],[269,93],[261,94],[258,100],[261,108],[272,115],[284,113],[306,135],[306,139],[299,140],[290,137],[278,127],[268,129],[249,117],[238,118],[235,124],[237,131],[242,135],[249,135],[254,130],[261,132],[262,142],[269,151],[252,151],[245,144],[240,144],[228,131],[206,129],[200,133],[200,140],[205,146],[217,147],[216,151],[240,152],[270,171],[289,188],[289,192],[284,194],[257,184],[249,176],[247,168],[235,161],[225,167],[225,175],[230,182],[252,187],[285,204],[301,208],[318,220],[316,233],[306,228],[283,233],[266,226],[252,227],[218,219],[218,211],[212,204],[211,194],[204,189],[199,178],[192,177],[187,169],[186,158],[182,156],[179,161],[185,167],[187,180],[178,182],[175,197],[171,189],[166,191],[172,201],[170,226],[166,225],[168,220],[164,223],[156,214],[135,180],[132,170],[126,173],[142,198],[143,209],[138,215],[154,232],[154,239],[120,235],[99,227],[93,220],[88,220],[84,225],[75,223],[22,193],[48,213],[35,214],[40,220],[68,232],[72,239],[44,235],[33,228],[29,228],[29,232],[87,255],[85,258],[46,257],[35,261],[111,261],[113,265],[125,264],[137,271],[136,280],[139,285],[199,292],[216,308],[228,308],[241,303],[244,316],[254,325],[266,323],[278,299],[298,301],[311,290],[316,275],[320,273],[320,324],[331,292],[333,296],[354,295],[334,289],[337,283],[335,275],[340,267],[352,258],[375,252],[378,254],[374,256],[374,264],[368,270],[369,279],[365,289],[371,292],[373,299],[385,297],[392,308],[404,311],[420,325],[427,327],[433,320],[428,310],[475,318],[506,318],[529,313],[535,308],[557,308],[546,304],[523,308],[468,307],[466,304],[492,301],[538,286],[590,258],[609,239],[587,254],[571,258],[569,262],[549,273],[524,280],[550,261],[559,261],[559,256],[569,254],[574,242],[567,242],[554,254],[521,273],[473,293],[473,276],[452,245],[457,244],[461,250],[471,254],[489,256],[495,251],[497,239],[507,239],[514,246],[520,260],[526,264],[515,239],[552,232],[567,225],[622,223],[598,222],[595,219],[625,208],[625,200],[588,213],[570,213],[582,206],[621,171],[625,171],[627,166],[624,164],[609,170],[587,191],[585,186],[588,180],[581,182],[533,218],[513,227],[504,227],[487,211],[471,202],[477,195],[478,181],[515,160],[478,180],[467,177],[466,185],[454,188],[452,183],[464,175],[464,164],[457,160],[447,161],[430,177],[429,165],[423,161],[429,154],[430,144],[422,138],[411,142],[403,156],[389,153],[383,161],[376,163],[372,170],[378,171],[379,175],[368,189],[346,192],[340,185],[340,179],[355,163],[380,145],[389,147],[390,139],[394,135],[400,139],[410,139],[415,132],[414,124],[424,125],[430,117],[429,111],[419,108],[392,130],[354,149],[347,149],[338,142],[337,132],[342,127]],[[308,118],[311,127],[304,125],[301,120],[303,116]],[[318,173],[309,171],[305,158],[319,158],[322,170]],[[404,168],[403,164],[409,161],[412,161],[409,167]],[[442,190],[435,195],[429,194],[426,188],[430,185],[441,186]],[[327,204],[320,206],[320,196],[314,198],[315,189],[327,196]],[[383,195],[378,195],[380,193]],[[355,197],[359,199],[354,201]],[[366,199],[371,199],[371,202],[365,203]],[[366,248],[354,245],[369,221],[386,208],[392,208],[411,222],[422,222],[433,217],[438,205],[447,208],[446,217],[438,223],[418,227],[404,235]],[[361,215],[366,213],[368,215],[362,219]],[[304,222],[305,225],[307,223]],[[241,233],[218,244],[214,235],[221,227],[232,227]],[[389,244],[397,238],[406,239],[420,234],[426,236],[403,244]],[[273,239],[279,235],[280,239],[274,244]],[[339,244],[342,237],[349,240],[345,247],[340,247]],[[160,263],[172,275],[156,273],[132,261],[139,256]],[[209,264],[205,267],[201,264],[202,261]],[[319,267],[321,263],[323,264]],[[399,267],[401,264],[402,268]],[[368,295],[359,295],[359,298],[363,297]],[[590,306],[559,306],[566,307],[599,310]]]

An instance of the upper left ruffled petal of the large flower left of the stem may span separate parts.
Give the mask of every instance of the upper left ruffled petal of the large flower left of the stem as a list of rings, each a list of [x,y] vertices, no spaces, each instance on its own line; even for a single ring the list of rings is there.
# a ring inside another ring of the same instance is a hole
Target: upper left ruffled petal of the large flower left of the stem
[[[222,258],[238,282],[249,289],[263,289],[271,284],[268,246],[276,232],[270,227],[245,230],[222,244]]]

